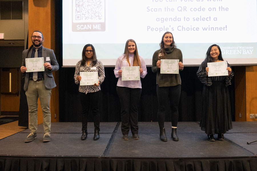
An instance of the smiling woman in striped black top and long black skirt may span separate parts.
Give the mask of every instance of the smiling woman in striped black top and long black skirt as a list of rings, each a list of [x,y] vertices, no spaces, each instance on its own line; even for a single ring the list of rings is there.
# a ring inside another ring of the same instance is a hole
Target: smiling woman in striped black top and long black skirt
[[[227,86],[231,84],[234,72],[228,64],[228,76],[208,76],[207,63],[223,61],[220,47],[213,44],[208,48],[206,58],[197,71],[198,79],[204,84],[200,127],[207,134],[209,141],[215,141],[214,134],[218,134],[218,140],[224,140],[223,134],[232,129]]]

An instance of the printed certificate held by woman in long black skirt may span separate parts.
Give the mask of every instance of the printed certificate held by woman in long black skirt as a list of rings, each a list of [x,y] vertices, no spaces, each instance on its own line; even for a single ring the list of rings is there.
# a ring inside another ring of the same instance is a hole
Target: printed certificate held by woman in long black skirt
[[[209,62],[207,63],[207,67],[209,68],[208,76],[228,76],[228,63],[224,62]]]

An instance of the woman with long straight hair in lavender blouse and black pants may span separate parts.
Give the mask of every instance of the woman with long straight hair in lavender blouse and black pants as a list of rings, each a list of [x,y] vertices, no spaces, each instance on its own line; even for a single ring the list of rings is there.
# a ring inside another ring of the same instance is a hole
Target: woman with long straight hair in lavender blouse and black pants
[[[144,59],[138,55],[136,42],[133,39],[127,40],[124,54],[117,59],[114,74],[116,78],[119,78],[116,89],[121,101],[122,139],[128,140],[129,128],[131,129],[133,139],[139,139],[138,103],[142,91],[141,80],[122,81],[121,67],[123,66],[139,66],[141,78],[144,78],[147,74]]]

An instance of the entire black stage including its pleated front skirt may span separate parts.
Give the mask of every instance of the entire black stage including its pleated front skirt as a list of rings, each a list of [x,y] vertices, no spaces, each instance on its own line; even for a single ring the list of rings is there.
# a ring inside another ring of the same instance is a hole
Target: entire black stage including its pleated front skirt
[[[25,143],[29,129],[0,140],[1,170],[95,171],[257,171],[257,122],[234,122],[225,140],[210,142],[197,122],[178,123],[179,141],[159,139],[156,122],[140,122],[139,140],[131,133],[122,140],[121,124],[100,124],[100,139],[93,140],[94,125],[81,141],[81,123],[52,123],[52,140],[43,143],[43,125],[37,139]],[[214,136],[215,138],[217,135]]]

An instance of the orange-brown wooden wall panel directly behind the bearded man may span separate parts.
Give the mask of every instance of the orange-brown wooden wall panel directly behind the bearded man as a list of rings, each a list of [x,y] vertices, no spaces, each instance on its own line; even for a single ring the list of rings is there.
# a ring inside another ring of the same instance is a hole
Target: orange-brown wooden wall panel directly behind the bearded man
[[[43,46],[55,52],[55,1],[29,0],[29,45],[32,44],[30,36],[34,30],[40,30],[44,36]],[[58,59],[57,59],[58,61]],[[53,72],[57,87],[52,89],[50,110],[52,122],[59,121],[59,74]],[[58,118],[55,118],[55,114]],[[38,123],[43,123],[42,109],[38,108]]]

